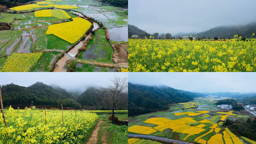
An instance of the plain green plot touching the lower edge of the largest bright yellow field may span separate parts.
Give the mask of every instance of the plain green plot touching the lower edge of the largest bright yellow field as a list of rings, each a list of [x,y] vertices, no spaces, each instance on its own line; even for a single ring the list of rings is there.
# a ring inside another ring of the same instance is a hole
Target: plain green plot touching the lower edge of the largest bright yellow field
[[[54,36],[54,35],[46,35],[47,37],[47,49],[57,49],[57,50],[67,50],[72,44],[69,42]]]

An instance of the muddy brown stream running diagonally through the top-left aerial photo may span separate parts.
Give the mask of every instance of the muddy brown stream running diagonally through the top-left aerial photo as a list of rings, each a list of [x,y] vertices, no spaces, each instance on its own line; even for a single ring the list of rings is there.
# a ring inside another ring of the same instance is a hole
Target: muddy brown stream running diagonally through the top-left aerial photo
[[[93,29],[92,31],[95,31],[99,28],[99,25],[95,22],[93,22]],[[64,56],[59,59],[59,61],[55,64],[54,72],[67,72],[67,69],[65,68],[66,62],[68,60],[75,59],[76,54],[78,54],[78,50],[82,47],[83,43],[88,39],[88,37],[91,36],[91,33],[86,36],[84,40],[79,42],[77,45],[75,45],[68,53],[65,52]]]

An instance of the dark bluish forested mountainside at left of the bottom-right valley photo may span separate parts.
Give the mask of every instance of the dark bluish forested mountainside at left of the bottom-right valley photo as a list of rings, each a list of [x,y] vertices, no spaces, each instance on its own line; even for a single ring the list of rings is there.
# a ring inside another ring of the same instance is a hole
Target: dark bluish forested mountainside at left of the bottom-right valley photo
[[[157,110],[169,109],[169,105],[187,102],[203,94],[161,86],[128,83],[128,115],[135,116]]]

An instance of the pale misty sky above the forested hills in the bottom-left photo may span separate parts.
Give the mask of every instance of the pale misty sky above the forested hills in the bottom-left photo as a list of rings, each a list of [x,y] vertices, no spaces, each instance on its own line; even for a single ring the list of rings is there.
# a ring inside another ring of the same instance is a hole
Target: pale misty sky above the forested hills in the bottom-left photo
[[[128,72],[0,72],[0,84],[30,86],[37,81],[66,90],[83,92],[87,87],[106,87],[113,76],[128,78]]]

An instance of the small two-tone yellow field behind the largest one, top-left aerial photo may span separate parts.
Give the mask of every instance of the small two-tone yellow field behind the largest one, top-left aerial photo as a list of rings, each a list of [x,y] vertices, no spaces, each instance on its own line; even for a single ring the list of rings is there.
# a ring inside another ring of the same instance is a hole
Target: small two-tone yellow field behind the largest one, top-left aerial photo
[[[55,17],[59,19],[71,18],[62,9],[42,9],[35,11],[35,17]]]

